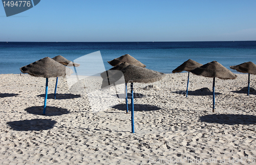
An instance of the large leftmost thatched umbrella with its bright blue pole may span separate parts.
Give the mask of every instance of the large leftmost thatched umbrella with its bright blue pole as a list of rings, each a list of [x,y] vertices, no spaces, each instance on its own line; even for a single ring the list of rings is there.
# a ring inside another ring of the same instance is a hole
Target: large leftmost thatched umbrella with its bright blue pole
[[[56,62],[55,60],[49,57],[42,58],[29,65],[20,67],[19,69],[22,71],[22,73],[28,73],[31,76],[46,78],[46,95],[45,95],[44,111],[42,112],[42,114],[46,113],[48,78],[66,76],[66,75],[70,76],[73,73],[70,68],[66,69],[66,66]]]

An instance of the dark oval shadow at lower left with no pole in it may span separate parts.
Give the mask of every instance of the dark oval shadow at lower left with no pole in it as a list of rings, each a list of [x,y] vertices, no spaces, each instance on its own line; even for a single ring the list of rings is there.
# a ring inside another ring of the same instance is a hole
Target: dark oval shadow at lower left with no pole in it
[[[7,122],[7,124],[15,131],[40,131],[52,129],[56,121],[51,119],[32,119],[24,121]]]

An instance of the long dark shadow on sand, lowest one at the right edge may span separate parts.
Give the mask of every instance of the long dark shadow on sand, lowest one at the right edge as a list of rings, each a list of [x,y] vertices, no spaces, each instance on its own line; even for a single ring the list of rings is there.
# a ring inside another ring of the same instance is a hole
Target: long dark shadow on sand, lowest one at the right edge
[[[208,114],[200,117],[201,122],[218,124],[256,124],[255,115],[247,114]]]

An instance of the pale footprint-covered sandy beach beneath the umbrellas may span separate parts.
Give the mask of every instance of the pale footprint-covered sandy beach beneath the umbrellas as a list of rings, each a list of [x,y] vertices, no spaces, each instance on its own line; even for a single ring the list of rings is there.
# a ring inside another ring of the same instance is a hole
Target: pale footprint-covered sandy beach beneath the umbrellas
[[[256,161],[256,92],[247,96],[246,90],[239,91],[247,86],[246,74],[239,74],[234,80],[216,79],[215,113],[211,112],[212,78],[190,74],[188,98],[183,92],[187,73],[166,75],[164,80],[151,83],[153,87],[134,83],[135,93],[146,96],[135,99],[134,134],[131,113],[125,114],[124,99],[110,96],[115,100],[111,104],[117,105],[93,112],[87,94],[80,97],[70,93],[64,78],[59,78],[54,100],[55,79],[50,78],[46,115],[41,115],[45,78],[13,74],[0,78],[1,164],[154,164],[154,161],[155,164],[255,164]],[[91,82],[100,86],[99,80]],[[256,89],[254,75],[250,84]],[[111,88],[115,93],[114,87]],[[197,90],[201,88],[204,89]],[[93,104],[102,106],[101,100]],[[247,158],[245,162],[245,157],[254,159]],[[199,158],[206,162],[186,160]],[[239,162],[232,162],[232,158],[239,158]],[[182,162],[172,162],[175,160]]]

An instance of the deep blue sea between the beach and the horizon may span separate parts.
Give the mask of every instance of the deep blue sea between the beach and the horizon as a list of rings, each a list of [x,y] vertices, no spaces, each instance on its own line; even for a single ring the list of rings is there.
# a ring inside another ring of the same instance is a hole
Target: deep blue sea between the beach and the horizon
[[[218,61],[226,68],[252,61],[256,64],[256,41],[212,42],[0,42],[0,74],[19,74],[19,68],[44,57],[61,55],[71,61],[100,51],[107,62],[130,54],[146,68],[165,74],[188,59],[201,64]],[[230,69],[233,73],[236,70]]]

